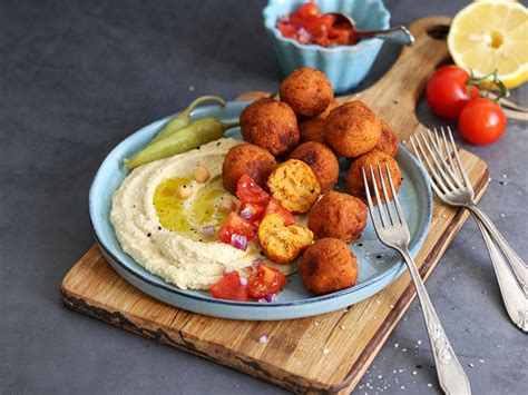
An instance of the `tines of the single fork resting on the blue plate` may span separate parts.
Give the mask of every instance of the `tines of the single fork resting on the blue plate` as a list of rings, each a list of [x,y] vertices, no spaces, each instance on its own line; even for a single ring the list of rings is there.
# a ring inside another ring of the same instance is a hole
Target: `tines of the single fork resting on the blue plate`
[[[365,186],[365,192],[366,192],[366,201],[369,203],[370,215],[372,217],[372,223],[374,224],[374,228],[377,229],[377,231],[380,228],[388,228],[388,227],[391,227],[391,226],[404,226],[404,227],[407,227],[405,217],[403,215],[403,210],[401,209],[400,201],[398,199],[398,195],[397,195],[397,191],[395,191],[395,188],[394,188],[394,182],[392,181],[389,165],[385,162],[384,167],[385,167],[387,178],[389,180],[389,186],[390,186],[391,192],[392,192],[392,199],[393,199],[394,208],[391,208],[391,204],[390,204],[391,199],[389,198],[389,194],[388,194],[388,190],[387,190],[387,186],[385,186],[384,176],[383,176],[381,165],[378,165],[378,172],[379,172],[379,176],[380,176],[381,189],[383,190],[383,198],[384,198],[387,211],[389,213],[390,223],[388,220],[389,218],[385,215],[385,209],[383,208],[383,204],[382,204],[382,200],[381,200],[381,197],[380,197],[378,182],[375,180],[374,169],[372,168],[372,165],[370,165],[370,175],[372,177],[372,187],[374,189],[374,195],[375,195],[375,200],[377,200],[377,205],[378,205],[379,216],[381,218],[381,224],[379,223],[378,216],[375,215],[375,211],[374,211],[374,205],[372,203],[372,196],[371,196],[371,191],[370,191],[370,188],[369,188],[369,182],[368,182],[368,179],[366,179],[365,168],[364,167],[362,168],[362,170],[363,170],[363,184]]]

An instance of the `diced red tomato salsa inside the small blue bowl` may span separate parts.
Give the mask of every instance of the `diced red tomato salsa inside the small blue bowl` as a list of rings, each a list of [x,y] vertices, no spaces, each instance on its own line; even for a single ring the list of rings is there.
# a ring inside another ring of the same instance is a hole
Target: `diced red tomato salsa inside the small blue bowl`
[[[359,41],[350,24],[335,23],[335,17],[321,13],[313,0],[282,17],[276,27],[284,37],[301,43],[335,47],[353,46]]]

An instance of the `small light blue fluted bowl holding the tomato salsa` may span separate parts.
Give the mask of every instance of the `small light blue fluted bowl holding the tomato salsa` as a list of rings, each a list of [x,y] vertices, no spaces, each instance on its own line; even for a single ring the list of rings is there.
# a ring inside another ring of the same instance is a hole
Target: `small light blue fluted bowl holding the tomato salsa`
[[[382,40],[361,40],[355,46],[324,48],[302,45],[285,38],[275,27],[277,20],[292,13],[303,0],[270,0],[264,8],[264,27],[273,42],[278,62],[289,75],[300,67],[312,67],[326,75],[338,93],[355,88],[369,73],[380,52]],[[352,16],[358,30],[389,29],[390,12],[382,0],[317,0],[323,13],[342,12]]]

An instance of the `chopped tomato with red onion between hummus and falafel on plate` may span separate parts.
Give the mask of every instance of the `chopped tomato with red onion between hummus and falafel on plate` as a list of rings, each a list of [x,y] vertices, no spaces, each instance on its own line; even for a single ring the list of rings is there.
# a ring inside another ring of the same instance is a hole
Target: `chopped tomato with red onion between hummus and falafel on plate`
[[[229,214],[218,230],[217,236],[223,243],[246,250],[247,244],[256,236],[258,223],[270,214],[280,214],[286,226],[295,224],[293,214],[250,176],[241,177],[236,196],[242,205],[236,213]],[[227,271],[219,282],[211,286],[211,294],[215,298],[227,300],[274,302],[275,295],[286,285],[286,276],[260,260],[250,269],[252,274],[248,278],[242,277],[236,270]]]

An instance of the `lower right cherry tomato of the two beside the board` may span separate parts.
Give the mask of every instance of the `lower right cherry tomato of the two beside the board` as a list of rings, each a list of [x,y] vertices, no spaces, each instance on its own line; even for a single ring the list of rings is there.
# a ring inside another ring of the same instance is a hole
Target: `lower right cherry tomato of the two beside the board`
[[[500,106],[490,99],[473,99],[460,112],[458,127],[466,140],[482,146],[502,136],[506,115]]]

